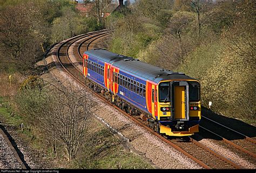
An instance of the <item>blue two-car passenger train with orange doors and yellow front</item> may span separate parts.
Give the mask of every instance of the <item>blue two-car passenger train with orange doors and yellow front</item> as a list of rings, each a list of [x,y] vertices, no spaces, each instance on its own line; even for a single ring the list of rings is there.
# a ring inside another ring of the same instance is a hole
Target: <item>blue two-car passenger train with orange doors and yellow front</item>
[[[106,49],[83,54],[88,86],[159,134],[190,136],[199,132],[200,82]]]

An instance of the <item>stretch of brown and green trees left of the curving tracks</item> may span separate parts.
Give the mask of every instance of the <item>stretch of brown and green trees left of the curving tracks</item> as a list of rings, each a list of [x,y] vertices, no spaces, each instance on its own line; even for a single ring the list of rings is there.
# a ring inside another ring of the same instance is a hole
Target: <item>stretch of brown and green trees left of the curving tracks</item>
[[[98,29],[97,18],[80,16],[70,1],[1,1],[0,69],[35,73],[35,63],[52,44]]]

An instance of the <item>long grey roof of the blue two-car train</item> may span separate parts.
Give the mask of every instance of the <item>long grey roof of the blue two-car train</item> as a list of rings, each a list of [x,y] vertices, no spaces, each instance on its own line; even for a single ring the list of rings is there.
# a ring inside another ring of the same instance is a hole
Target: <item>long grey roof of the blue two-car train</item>
[[[163,69],[151,64],[106,51],[105,49],[94,49],[85,52],[89,56],[96,57],[107,63],[113,63],[113,66],[118,67],[130,74],[134,74],[140,77],[150,80],[155,83],[159,83],[164,80],[195,80],[192,77],[185,75],[184,73],[173,72],[171,70]]]

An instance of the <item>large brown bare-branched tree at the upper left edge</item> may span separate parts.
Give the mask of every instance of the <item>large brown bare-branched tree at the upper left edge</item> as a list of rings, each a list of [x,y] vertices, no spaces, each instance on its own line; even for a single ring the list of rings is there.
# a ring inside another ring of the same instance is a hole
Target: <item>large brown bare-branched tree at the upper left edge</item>
[[[0,12],[1,60],[5,69],[33,68],[42,54],[45,27],[33,3],[10,6]],[[11,64],[11,65],[10,65]]]

